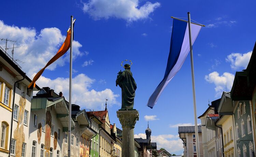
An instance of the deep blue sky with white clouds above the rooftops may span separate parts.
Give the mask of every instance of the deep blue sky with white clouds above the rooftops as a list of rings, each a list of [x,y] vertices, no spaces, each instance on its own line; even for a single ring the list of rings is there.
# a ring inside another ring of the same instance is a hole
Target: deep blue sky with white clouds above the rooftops
[[[161,0],[3,1],[0,38],[16,40],[14,58],[32,76],[57,52],[70,24],[74,27],[73,103],[99,110],[108,98],[111,123],[121,90],[115,86],[120,63],[129,59],[137,83],[134,108],[140,112],[134,133],[145,137],[150,120],[158,149],[182,154],[177,125],[194,124],[190,58],[161,94],[153,109],[146,103],[162,80],[170,47],[172,19],[187,17],[205,24],[194,45],[197,117],[229,91],[236,71],[245,69],[255,43],[256,1]],[[13,43],[9,42],[8,47]],[[1,47],[5,42],[1,41]],[[9,53],[11,50],[8,51]],[[69,53],[43,73],[37,82],[68,99]],[[123,69],[122,69],[123,70]],[[147,116],[146,118],[144,116]],[[200,120],[198,121],[200,123]]]

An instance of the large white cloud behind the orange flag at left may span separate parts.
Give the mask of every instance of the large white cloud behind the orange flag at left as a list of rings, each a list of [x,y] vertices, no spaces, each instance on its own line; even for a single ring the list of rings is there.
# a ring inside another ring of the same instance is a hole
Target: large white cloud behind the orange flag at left
[[[18,59],[24,64],[20,64],[22,70],[31,76],[34,72],[38,72],[46,63],[57,53],[59,47],[66,38],[66,34],[62,35],[58,28],[44,28],[37,32],[34,28],[16,27],[14,25],[6,25],[0,20],[0,36],[15,40],[14,60]],[[5,49],[4,41],[1,41],[1,47]],[[8,42],[7,47],[12,47],[13,43]],[[75,41],[73,42],[73,59],[77,56],[82,56],[83,52],[79,50],[82,45]],[[11,54],[11,49],[8,50]],[[64,56],[60,57],[56,62],[50,65],[47,69],[54,70],[58,66],[65,65],[69,62],[69,51]]]

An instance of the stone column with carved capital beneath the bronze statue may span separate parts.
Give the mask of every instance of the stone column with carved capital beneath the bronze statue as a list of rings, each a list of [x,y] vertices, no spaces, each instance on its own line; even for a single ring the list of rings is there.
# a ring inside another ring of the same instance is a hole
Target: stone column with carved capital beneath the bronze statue
[[[139,120],[137,110],[116,111],[123,128],[122,157],[134,157],[134,125]]]

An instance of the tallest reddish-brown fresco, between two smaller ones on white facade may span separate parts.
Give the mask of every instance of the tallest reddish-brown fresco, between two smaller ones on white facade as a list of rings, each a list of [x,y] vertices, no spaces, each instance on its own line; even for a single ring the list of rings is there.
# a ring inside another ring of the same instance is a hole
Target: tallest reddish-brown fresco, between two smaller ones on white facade
[[[44,149],[50,151],[50,147],[51,147],[52,114],[51,114],[51,112],[49,110],[46,111],[46,116],[45,117],[46,117],[46,122],[45,122]],[[45,156],[46,156],[46,153],[45,153]]]

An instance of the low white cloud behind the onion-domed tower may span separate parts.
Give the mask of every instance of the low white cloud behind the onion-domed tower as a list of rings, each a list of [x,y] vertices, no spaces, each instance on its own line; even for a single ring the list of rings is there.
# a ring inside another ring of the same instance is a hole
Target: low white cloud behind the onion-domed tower
[[[136,134],[134,138],[146,139],[146,134]],[[151,141],[157,143],[157,148],[165,148],[169,153],[176,153],[183,150],[183,142],[179,138],[179,135],[157,135],[151,136]]]

